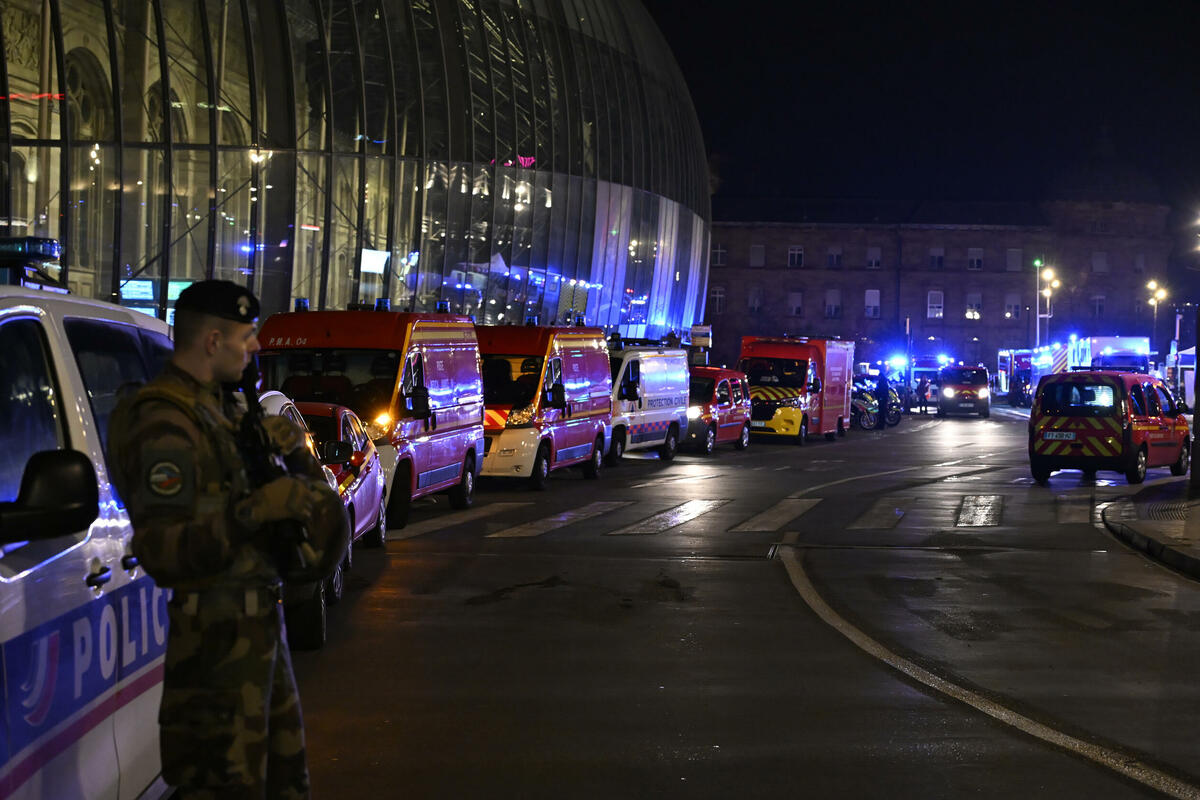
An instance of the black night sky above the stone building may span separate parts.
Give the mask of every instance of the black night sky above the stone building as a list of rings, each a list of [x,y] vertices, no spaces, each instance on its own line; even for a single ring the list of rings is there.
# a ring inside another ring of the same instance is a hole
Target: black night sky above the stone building
[[[644,4],[719,197],[1037,200],[1106,132],[1200,213],[1200,4]]]

